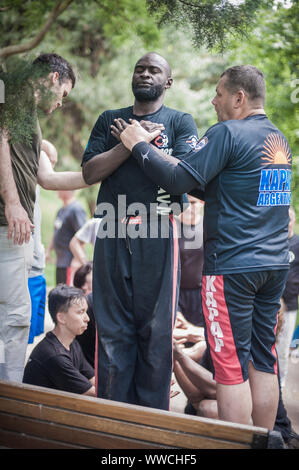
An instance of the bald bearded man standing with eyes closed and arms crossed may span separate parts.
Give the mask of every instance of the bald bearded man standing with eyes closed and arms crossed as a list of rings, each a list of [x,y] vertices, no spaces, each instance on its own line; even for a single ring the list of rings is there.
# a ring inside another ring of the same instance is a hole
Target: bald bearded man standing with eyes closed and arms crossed
[[[161,154],[181,158],[195,147],[197,129],[190,114],[163,105],[171,84],[163,57],[141,57],[132,78],[133,106],[100,115],[82,162],[87,183],[102,181],[93,267],[98,396],[166,410],[179,285],[176,224],[169,206],[175,203],[180,210],[184,198],[148,178],[119,134],[129,119],[136,119],[149,130],[162,130],[153,142]]]

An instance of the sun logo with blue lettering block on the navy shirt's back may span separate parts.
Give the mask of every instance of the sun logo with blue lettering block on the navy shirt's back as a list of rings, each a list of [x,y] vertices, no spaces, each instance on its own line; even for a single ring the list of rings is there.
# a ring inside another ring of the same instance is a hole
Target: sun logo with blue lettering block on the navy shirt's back
[[[291,165],[291,152],[287,141],[279,134],[265,139],[263,165]],[[257,206],[289,206],[291,203],[291,170],[264,168],[261,171]]]

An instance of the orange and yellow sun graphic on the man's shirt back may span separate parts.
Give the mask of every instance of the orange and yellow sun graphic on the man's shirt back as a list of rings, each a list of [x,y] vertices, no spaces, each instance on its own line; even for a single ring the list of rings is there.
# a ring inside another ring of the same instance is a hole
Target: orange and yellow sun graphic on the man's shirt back
[[[264,151],[262,160],[264,164],[272,163],[274,165],[290,165],[291,152],[287,141],[279,134],[269,134],[263,145]]]

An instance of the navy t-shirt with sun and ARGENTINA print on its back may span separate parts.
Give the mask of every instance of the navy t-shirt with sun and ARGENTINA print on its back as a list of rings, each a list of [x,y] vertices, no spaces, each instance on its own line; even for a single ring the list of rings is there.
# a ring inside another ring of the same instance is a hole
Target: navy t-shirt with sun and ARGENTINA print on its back
[[[204,274],[287,269],[291,151],[260,114],[211,127],[179,163],[205,189]]]

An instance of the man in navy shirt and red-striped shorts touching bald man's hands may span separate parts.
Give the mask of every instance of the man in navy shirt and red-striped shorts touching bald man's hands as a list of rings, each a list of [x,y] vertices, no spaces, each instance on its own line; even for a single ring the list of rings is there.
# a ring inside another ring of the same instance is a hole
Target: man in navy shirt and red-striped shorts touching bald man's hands
[[[203,312],[221,419],[273,428],[275,328],[288,267],[291,152],[264,111],[253,66],[221,76],[212,126],[181,161],[148,144],[137,122],[121,133],[141,168],[174,194],[204,191]],[[203,198],[203,195],[200,196]]]

